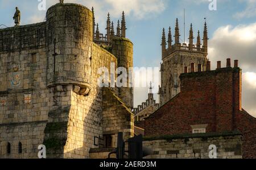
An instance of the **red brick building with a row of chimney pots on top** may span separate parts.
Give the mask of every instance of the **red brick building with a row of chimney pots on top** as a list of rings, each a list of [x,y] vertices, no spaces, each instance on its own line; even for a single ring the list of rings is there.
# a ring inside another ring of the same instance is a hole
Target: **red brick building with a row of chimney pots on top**
[[[155,111],[144,122],[145,136],[191,134],[200,132],[242,133],[244,158],[256,158],[256,118],[242,109],[242,71],[230,59],[226,68],[191,73],[187,67],[180,76],[181,92]]]

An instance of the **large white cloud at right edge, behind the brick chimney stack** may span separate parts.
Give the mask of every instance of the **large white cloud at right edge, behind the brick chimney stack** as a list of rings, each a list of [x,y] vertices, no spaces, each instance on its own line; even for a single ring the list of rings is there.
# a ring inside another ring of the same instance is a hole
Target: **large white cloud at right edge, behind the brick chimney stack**
[[[239,60],[243,70],[242,76],[242,106],[256,117],[256,23],[236,27],[224,26],[218,28],[209,41],[209,58],[216,68],[216,61],[226,58]]]

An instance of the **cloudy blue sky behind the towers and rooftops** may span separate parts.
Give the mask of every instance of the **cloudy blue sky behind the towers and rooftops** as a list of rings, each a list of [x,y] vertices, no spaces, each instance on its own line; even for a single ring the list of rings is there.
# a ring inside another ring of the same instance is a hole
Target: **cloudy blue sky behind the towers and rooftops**
[[[43,0],[41,0],[43,1]],[[47,8],[58,1],[46,1]],[[256,117],[256,0],[217,0],[217,10],[210,11],[208,0],[64,0],[94,6],[96,22],[105,32],[106,15],[110,12],[115,25],[126,13],[127,38],[134,43],[134,67],[159,67],[161,61],[162,29],[171,26],[174,32],[175,19],[179,19],[183,39],[183,9],[186,11],[186,41],[188,27],[193,24],[203,32],[204,18],[209,30],[209,59],[213,63],[226,58],[240,60],[243,69],[243,107]],[[0,0],[0,25],[14,25],[15,6],[22,13],[22,23],[42,22],[46,11],[39,11],[38,0]],[[1,28],[4,26],[1,26]],[[202,36],[202,34],[201,34]],[[135,89],[135,106],[147,97],[147,88]],[[158,96],[155,94],[155,98]]]

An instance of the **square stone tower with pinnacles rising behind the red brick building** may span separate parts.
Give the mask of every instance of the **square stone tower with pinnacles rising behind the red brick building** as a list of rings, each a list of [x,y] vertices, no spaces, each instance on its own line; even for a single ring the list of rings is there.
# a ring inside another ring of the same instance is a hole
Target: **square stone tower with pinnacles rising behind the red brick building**
[[[171,27],[168,32],[168,47],[166,48],[166,33],[163,29],[162,35],[162,64],[161,64],[161,86],[159,87],[160,106],[168,102],[180,92],[181,73],[184,73],[184,68],[201,69],[205,71],[208,55],[208,35],[207,23],[204,25],[203,46],[201,46],[200,32],[198,31],[197,43],[193,44],[193,28],[192,24],[189,30],[189,44],[180,43],[179,22],[176,19],[175,26],[175,42],[172,44]],[[191,63],[195,63],[196,68],[191,68]],[[198,67],[197,67],[198,66]]]

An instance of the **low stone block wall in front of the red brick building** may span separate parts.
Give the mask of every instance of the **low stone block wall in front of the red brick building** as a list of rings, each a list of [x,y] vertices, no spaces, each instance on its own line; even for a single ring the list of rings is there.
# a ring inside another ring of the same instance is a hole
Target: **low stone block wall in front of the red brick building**
[[[241,134],[198,134],[145,138],[143,147],[153,155],[144,159],[209,159],[209,146],[217,147],[218,159],[242,159]]]

